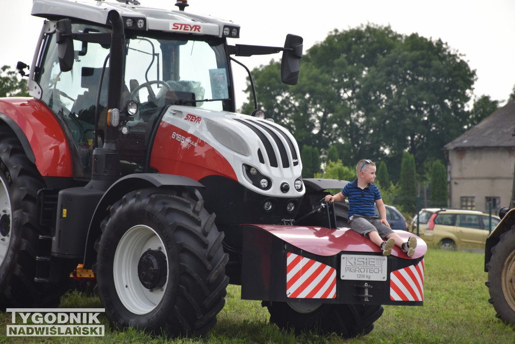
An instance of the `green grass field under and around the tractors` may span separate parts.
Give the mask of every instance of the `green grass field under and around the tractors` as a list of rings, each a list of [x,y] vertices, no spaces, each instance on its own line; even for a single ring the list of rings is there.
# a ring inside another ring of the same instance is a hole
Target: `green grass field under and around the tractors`
[[[513,327],[495,318],[488,302],[483,269],[484,254],[430,249],[425,256],[424,306],[384,306],[383,316],[374,330],[354,339],[336,335],[295,336],[268,323],[268,312],[259,301],[239,299],[239,287],[230,285],[226,306],[218,315],[218,323],[203,338],[166,339],[152,337],[138,330],[112,331],[106,324],[106,336],[85,337],[6,337],[10,314],[0,317],[0,342],[47,343],[513,343]],[[87,298],[73,292],[61,299],[60,307],[101,308],[97,297]]]

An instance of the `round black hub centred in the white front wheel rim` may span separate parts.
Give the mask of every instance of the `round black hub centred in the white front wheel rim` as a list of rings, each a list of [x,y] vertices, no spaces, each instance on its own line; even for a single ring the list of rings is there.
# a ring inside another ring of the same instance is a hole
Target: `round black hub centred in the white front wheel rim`
[[[147,250],[138,262],[138,277],[147,289],[161,288],[166,283],[166,256],[161,250]]]

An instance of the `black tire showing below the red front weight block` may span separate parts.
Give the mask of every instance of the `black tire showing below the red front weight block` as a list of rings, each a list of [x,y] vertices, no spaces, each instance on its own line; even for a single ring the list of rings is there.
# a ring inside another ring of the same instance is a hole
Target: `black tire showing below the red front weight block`
[[[300,334],[310,331],[320,334],[337,333],[353,338],[367,334],[374,328],[374,321],[383,314],[381,305],[317,304],[263,302],[268,308],[270,322],[286,331]]]

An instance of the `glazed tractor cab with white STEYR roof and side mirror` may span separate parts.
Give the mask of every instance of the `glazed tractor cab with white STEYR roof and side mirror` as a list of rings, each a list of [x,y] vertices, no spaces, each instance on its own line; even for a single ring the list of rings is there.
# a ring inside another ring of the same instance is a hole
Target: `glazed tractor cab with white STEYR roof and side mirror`
[[[67,129],[76,178],[90,178],[93,151],[106,142],[116,142],[109,149],[118,151],[122,175],[148,172],[149,140],[170,105],[235,112],[230,55],[282,51],[281,76],[290,85],[297,82],[298,36],[288,35],[284,48],[228,45],[227,38],[239,37],[239,26],[185,13],[185,2],[177,4],[179,11],[102,2],[102,18],[91,2],[48,4],[35,1],[32,7],[33,15],[50,20],[40,36],[29,93]]]

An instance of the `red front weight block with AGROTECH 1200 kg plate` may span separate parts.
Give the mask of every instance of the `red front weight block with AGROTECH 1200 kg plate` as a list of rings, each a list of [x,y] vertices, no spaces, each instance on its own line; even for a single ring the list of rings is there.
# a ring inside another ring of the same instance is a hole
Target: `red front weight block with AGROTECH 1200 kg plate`
[[[384,257],[349,228],[243,225],[242,299],[421,306],[425,242]],[[403,239],[414,236],[396,231]]]

